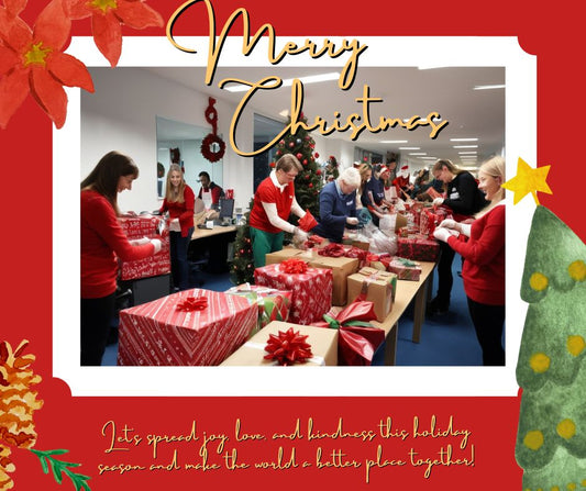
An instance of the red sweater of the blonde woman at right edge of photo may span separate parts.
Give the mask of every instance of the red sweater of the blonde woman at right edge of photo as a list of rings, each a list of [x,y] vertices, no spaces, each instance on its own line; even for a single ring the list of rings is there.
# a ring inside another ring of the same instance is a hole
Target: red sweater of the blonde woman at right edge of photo
[[[505,204],[474,221],[469,241],[450,237],[447,244],[465,259],[466,294],[479,303],[505,305]]]

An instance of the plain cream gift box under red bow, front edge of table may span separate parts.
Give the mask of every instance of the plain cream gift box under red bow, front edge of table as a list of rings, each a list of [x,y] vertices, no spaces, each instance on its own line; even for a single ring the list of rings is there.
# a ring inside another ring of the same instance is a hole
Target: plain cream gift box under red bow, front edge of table
[[[264,359],[267,355],[265,346],[268,342],[268,336],[278,335],[279,331],[286,332],[289,327],[299,332],[301,335],[307,335],[307,343],[311,345],[311,353],[313,358],[310,358],[305,364],[295,364],[294,367],[311,367],[311,366],[335,366],[338,365],[338,331],[324,330],[321,327],[312,327],[309,325],[297,325],[288,322],[273,321],[251,339],[248,339],[234,354],[226,358],[221,365],[224,366],[274,366],[276,361]]]

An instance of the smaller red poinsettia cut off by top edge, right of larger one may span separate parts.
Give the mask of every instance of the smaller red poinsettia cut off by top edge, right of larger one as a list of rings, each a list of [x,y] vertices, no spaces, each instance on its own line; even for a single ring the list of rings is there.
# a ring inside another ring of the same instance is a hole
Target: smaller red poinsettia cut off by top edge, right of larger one
[[[112,67],[122,52],[122,24],[133,29],[163,26],[163,18],[143,0],[64,0],[71,19],[91,16],[93,42]]]

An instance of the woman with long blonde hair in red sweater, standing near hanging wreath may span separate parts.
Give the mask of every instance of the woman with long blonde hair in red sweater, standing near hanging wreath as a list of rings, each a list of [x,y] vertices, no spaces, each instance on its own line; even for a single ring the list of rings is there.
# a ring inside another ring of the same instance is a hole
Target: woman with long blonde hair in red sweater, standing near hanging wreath
[[[185,182],[181,168],[172,164],[161,213],[169,212],[170,272],[176,291],[189,288],[187,249],[194,235],[195,204],[196,196]]]

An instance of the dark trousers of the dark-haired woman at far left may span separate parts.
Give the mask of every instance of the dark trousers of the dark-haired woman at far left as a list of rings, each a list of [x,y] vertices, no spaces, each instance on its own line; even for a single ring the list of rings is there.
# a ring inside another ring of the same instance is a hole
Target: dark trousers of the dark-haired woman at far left
[[[99,367],[115,312],[115,293],[81,299],[81,366]]]

